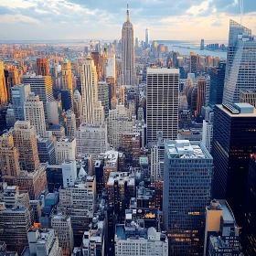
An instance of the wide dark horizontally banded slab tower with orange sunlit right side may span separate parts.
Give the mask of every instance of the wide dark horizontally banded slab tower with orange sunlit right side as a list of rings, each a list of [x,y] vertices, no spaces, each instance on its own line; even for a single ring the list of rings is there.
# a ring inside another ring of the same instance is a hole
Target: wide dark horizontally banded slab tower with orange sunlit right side
[[[42,77],[42,76],[25,76],[23,78],[24,84],[30,84],[31,92],[35,92],[39,96],[40,101],[43,101],[44,111],[46,121],[48,121],[47,116],[47,102],[54,101],[53,91],[52,91],[52,82],[51,77]]]

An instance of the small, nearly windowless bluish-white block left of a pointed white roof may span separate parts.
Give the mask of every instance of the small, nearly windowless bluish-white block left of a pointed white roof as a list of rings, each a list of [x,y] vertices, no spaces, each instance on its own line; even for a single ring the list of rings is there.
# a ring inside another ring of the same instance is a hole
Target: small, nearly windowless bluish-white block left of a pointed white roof
[[[77,163],[76,160],[66,160],[61,164],[63,187],[72,187],[77,179]]]

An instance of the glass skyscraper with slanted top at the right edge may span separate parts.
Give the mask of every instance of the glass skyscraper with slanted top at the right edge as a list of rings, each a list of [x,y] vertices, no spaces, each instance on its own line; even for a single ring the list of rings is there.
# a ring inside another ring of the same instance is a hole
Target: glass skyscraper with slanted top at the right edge
[[[230,20],[223,103],[238,102],[240,90],[255,90],[255,59],[256,40],[251,29]]]

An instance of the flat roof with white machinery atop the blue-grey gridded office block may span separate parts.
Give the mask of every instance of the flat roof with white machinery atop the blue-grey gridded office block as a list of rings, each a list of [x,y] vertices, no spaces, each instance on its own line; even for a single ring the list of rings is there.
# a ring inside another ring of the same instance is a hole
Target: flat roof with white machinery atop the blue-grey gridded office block
[[[212,159],[206,147],[199,141],[165,141],[165,151],[167,151],[168,158]]]

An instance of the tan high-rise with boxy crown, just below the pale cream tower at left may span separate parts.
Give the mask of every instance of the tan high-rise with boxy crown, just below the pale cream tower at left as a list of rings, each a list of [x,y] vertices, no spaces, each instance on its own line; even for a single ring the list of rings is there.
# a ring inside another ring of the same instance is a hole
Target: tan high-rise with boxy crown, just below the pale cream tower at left
[[[13,130],[15,146],[19,152],[22,170],[33,172],[40,166],[37,152],[36,128],[29,121],[17,121]]]

